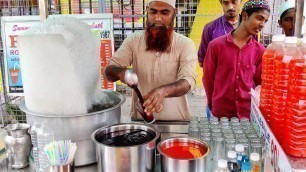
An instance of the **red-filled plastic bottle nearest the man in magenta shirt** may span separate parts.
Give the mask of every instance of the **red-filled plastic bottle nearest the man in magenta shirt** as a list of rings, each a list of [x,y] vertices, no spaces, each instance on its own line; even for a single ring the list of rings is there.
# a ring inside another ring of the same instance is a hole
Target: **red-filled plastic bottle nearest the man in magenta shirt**
[[[271,104],[273,93],[274,59],[276,53],[284,51],[283,42],[285,35],[273,35],[272,43],[267,47],[262,56],[262,74],[259,108],[268,124],[270,123]]]

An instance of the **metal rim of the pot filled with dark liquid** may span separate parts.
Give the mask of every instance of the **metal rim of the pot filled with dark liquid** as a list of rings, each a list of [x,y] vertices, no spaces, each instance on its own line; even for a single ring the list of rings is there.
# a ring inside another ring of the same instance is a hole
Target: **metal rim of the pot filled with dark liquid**
[[[150,128],[152,129],[154,132],[155,132],[155,137],[154,139],[150,140],[149,142],[145,142],[145,143],[142,143],[142,144],[137,144],[137,145],[133,145],[133,146],[110,146],[110,145],[106,145],[106,144],[102,144],[100,142],[97,141],[95,135],[97,132],[99,131],[102,131],[102,130],[105,130],[107,128],[111,128],[111,127],[119,127],[119,126],[125,126],[125,125],[133,125],[133,126],[140,126],[140,127],[147,127],[147,128]],[[156,142],[156,140],[160,137],[160,132],[153,126],[153,125],[150,125],[150,124],[140,124],[140,123],[121,123],[121,124],[115,124],[115,125],[111,125],[111,126],[105,126],[105,127],[102,127],[102,128],[99,128],[97,130],[95,130],[92,134],[91,134],[91,140],[95,143],[95,144],[98,144],[98,145],[103,145],[105,147],[113,147],[113,148],[132,148],[132,147],[139,147],[141,145],[146,145],[150,142]]]

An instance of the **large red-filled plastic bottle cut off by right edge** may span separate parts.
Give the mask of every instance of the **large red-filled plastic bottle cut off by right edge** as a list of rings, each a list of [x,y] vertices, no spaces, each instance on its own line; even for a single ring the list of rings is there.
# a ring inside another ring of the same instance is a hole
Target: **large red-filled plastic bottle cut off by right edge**
[[[303,39],[299,62],[290,62],[289,93],[284,121],[283,149],[294,157],[306,157],[306,39]]]

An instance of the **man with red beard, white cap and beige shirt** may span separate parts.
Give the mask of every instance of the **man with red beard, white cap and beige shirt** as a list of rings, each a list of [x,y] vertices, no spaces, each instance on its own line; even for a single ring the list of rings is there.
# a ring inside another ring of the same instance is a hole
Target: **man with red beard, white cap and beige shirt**
[[[109,81],[126,83],[132,65],[145,112],[156,120],[190,119],[186,93],[196,84],[197,53],[194,42],[173,31],[175,0],[149,0],[146,30],[129,35],[109,60],[104,74]],[[132,119],[141,119],[133,94]]]

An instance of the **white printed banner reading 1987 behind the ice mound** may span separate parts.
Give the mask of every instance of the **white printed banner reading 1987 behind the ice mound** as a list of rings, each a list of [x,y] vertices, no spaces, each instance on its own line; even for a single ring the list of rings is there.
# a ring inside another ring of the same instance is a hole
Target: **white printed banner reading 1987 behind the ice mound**
[[[50,15],[58,17],[60,15]],[[95,35],[100,38],[101,74],[109,58],[114,53],[113,15],[112,14],[75,14],[69,15],[88,23]],[[5,67],[5,87],[10,96],[23,95],[23,84],[17,49],[17,37],[31,26],[39,23],[39,16],[8,16],[1,18],[1,36]],[[102,76],[102,75],[101,75]],[[115,83],[102,79],[102,88],[115,90]]]

